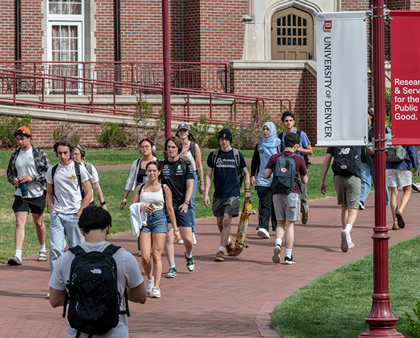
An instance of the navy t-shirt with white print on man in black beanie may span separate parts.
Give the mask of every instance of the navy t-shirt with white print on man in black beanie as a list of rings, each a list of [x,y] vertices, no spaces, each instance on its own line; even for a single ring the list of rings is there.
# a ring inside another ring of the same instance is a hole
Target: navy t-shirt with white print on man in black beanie
[[[238,180],[238,168],[233,157],[233,149],[226,153],[219,149],[216,165],[213,165],[213,153],[209,153],[207,165],[214,168],[214,198],[229,198],[241,195]],[[245,158],[239,152],[239,169],[246,168]]]

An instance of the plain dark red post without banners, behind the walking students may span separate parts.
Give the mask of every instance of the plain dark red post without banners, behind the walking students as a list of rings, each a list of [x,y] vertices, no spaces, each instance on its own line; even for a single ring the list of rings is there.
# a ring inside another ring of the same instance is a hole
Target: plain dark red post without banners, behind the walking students
[[[162,0],[163,27],[163,105],[164,105],[164,136],[172,134],[171,129],[171,65],[169,58],[169,0]]]

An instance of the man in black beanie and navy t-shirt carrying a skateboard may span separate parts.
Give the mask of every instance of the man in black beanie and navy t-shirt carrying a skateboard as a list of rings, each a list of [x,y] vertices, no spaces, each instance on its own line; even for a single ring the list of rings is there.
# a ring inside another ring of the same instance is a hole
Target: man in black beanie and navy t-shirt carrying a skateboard
[[[232,217],[238,217],[241,185],[238,178],[238,170],[243,172],[245,184],[245,201],[249,202],[251,190],[249,190],[249,173],[246,168],[245,158],[241,152],[231,147],[233,141],[229,129],[221,129],[218,135],[220,148],[212,151],[207,158],[207,174],[204,189],[204,205],[209,207],[209,190],[211,186],[211,174],[214,171],[214,195],[211,209],[217,220],[220,231],[220,246],[216,252],[215,261],[225,260],[225,249],[229,256],[233,256],[235,243],[231,236]]]

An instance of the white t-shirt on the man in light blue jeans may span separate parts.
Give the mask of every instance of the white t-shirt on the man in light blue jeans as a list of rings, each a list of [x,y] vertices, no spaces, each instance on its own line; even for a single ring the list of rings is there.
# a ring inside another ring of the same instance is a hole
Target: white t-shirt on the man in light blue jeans
[[[74,166],[79,165],[71,161],[68,165],[58,163],[56,173],[54,175],[54,190],[56,191],[56,200],[54,200],[54,209],[61,214],[75,214],[79,211],[82,205],[82,194],[78,185],[78,178],[76,177]],[[89,175],[85,165],[79,165],[81,183],[90,180],[92,176]],[[48,168],[46,173],[47,183],[53,184],[52,180],[53,167]]]

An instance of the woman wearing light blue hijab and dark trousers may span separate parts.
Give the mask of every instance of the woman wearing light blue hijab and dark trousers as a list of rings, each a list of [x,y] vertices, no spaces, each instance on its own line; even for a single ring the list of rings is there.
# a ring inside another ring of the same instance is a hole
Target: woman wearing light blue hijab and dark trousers
[[[275,228],[277,227],[277,222],[275,220],[273,208],[273,197],[271,196],[271,181],[273,180],[273,175],[266,180],[264,178],[264,169],[271,156],[283,151],[283,143],[281,143],[280,139],[277,137],[273,122],[266,122],[263,125],[262,133],[263,141],[257,143],[251,161],[251,185],[256,187],[260,200],[260,205],[258,207],[258,227],[256,228],[258,230],[257,234],[264,239],[268,239],[270,238],[268,232],[270,217],[273,231],[275,231]]]

